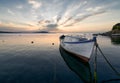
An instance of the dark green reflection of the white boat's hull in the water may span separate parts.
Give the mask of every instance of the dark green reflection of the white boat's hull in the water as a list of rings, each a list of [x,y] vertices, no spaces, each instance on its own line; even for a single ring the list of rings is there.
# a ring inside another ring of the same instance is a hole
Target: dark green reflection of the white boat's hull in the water
[[[84,83],[92,83],[92,73],[88,62],[84,62],[76,56],[68,53],[60,47],[60,54],[67,66],[75,72]]]

